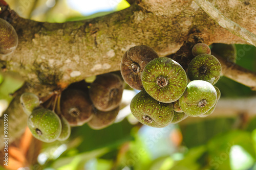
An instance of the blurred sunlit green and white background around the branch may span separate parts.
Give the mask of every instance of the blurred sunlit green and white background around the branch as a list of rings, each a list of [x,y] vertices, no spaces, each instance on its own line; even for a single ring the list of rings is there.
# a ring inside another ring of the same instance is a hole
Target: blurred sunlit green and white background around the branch
[[[89,19],[128,8],[124,0],[8,0],[12,9],[25,18],[47,22]],[[247,47],[249,45],[246,45]],[[236,45],[237,64],[256,71],[256,48],[241,55],[244,45]],[[0,114],[8,107],[10,94],[23,85],[17,74],[0,74]],[[255,92],[228,78],[216,84],[221,99],[253,97]],[[138,91],[126,85],[122,108],[115,124],[102,130],[87,125],[72,128],[67,141],[42,143],[28,140],[29,130],[13,148],[22,149],[29,141],[25,159],[15,158],[9,169],[59,170],[256,170],[256,118],[201,118],[197,121],[151,128],[138,124],[130,111],[130,102]],[[225,113],[223,113],[225,114]],[[13,150],[13,154],[17,151]],[[27,166],[25,168],[25,166]],[[20,167],[20,168],[19,168]],[[29,167],[29,168],[28,168]],[[0,167],[3,169],[3,167]]]

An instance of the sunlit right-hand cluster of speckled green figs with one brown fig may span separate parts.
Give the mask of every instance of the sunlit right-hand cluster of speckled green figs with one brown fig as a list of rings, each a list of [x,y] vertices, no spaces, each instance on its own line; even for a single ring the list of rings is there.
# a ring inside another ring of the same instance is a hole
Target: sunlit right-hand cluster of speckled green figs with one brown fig
[[[131,112],[140,123],[162,128],[188,116],[214,112],[220,90],[214,86],[221,64],[205,43],[192,48],[195,56],[187,71],[171,58],[159,57],[146,45],[131,47],[121,60],[121,74],[132,88],[141,90],[131,101]]]

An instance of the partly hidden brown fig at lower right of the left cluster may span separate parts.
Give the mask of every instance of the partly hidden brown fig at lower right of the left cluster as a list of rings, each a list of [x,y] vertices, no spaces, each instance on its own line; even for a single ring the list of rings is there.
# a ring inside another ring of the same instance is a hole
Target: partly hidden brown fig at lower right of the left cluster
[[[103,112],[95,109],[93,118],[87,123],[92,129],[99,130],[112,125],[119,112],[119,106],[114,110]]]

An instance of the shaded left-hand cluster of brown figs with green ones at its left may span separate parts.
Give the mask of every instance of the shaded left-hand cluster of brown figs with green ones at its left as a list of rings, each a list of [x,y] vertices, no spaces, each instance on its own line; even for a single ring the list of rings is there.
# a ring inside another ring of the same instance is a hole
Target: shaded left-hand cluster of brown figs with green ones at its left
[[[44,142],[67,140],[71,127],[88,126],[94,130],[114,123],[119,112],[123,80],[114,73],[99,75],[92,83],[80,81],[65,90],[43,98],[31,92],[20,96],[28,115],[32,135]]]

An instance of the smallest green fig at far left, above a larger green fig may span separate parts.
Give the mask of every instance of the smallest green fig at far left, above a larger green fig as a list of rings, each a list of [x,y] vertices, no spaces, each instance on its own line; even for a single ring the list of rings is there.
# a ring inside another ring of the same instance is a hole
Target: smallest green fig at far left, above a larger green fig
[[[22,104],[23,111],[29,116],[40,105],[40,100],[34,93],[25,92],[20,95],[20,104]]]

